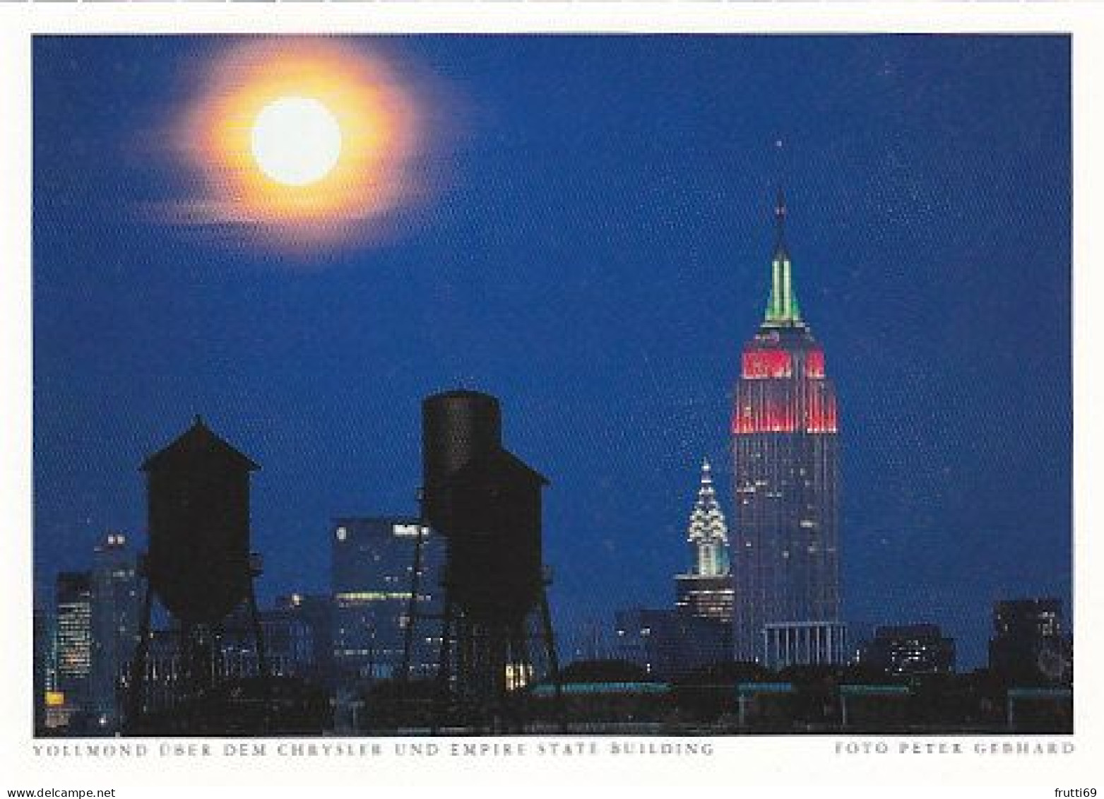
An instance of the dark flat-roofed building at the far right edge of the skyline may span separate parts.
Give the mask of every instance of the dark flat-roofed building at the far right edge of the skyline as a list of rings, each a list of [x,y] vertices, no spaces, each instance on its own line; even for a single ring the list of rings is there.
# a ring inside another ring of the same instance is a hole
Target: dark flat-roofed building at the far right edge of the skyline
[[[1062,600],[1008,599],[994,606],[996,635],[989,669],[1012,684],[1068,683],[1073,679],[1073,643],[1064,635]]]

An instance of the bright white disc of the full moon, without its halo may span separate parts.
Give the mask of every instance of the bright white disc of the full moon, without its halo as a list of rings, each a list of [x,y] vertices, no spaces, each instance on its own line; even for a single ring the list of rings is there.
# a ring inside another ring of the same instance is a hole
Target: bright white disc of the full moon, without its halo
[[[341,157],[341,126],[310,97],[282,97],[257,114],[250,136],[253,159],[285,185],[309,185],[328,175]]]

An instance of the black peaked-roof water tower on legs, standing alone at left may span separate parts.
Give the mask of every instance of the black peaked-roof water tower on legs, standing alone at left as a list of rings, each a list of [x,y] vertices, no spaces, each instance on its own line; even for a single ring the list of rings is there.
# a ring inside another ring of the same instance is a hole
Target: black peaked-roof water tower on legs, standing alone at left
[[[172,618],[174,659],[170,704],[185,707],[225,673],[223,621],[243,601],[256,646],[258,677],[268,668],[253,580],[261,558],[250,551],[250,477],[259,469],[197,416],[179,438],[142,464],[147,477],[149,550],[140,562],[146,594],[131,665],[127,724],[139,731],[148,710],[150,612],[156,596]],[[158,709],[173,729],[188,721],[173,707]]]

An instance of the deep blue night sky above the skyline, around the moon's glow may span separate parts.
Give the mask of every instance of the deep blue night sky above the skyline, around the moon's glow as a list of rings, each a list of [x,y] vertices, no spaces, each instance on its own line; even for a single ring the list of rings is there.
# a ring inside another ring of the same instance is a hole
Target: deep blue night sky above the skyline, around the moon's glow
[[[450,183],[308,266],[141,212],[180,191],[150,139],[226,42],[35,41],[40,575],[144,536],[138,466],[202,413],[263,466],[263,598],[323,590],[330,516],[412,511],[420,401],[463,384],[552,480],[562,632],[671,604],[703,455],[731,516],[781,173],[840,397],[849,620],[942,624],[974,665],[994,599],[1069,603],[1066,39],[390,40],[463,114],[431,114],[461,131]]]

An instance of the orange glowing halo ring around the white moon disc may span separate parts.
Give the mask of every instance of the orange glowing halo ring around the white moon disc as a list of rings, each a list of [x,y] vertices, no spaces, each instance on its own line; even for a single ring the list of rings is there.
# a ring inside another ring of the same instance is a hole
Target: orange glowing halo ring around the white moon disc
[[[264,39],[215,60],[178,128],[205,191],[193,217],[305,242],[348,236],[411,201],[421,130],[412,90],[380,60],[335,40]],[[341,130],[333,168],[294,185],[257,163],[258,115],[284,98],[314,99]]]

